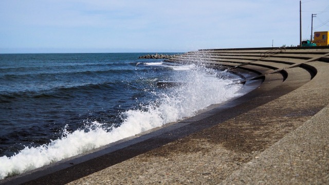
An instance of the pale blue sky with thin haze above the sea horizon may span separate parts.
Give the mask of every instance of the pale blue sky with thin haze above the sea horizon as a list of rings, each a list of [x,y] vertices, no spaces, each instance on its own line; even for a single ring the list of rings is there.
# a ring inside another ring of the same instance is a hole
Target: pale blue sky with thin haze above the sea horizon
[[[299,44],[300,0],[1,0],[0,53],[187,52]],[[302,1],[302,38],[329,1]],[[322,26],[321,26],[322,25]]]

